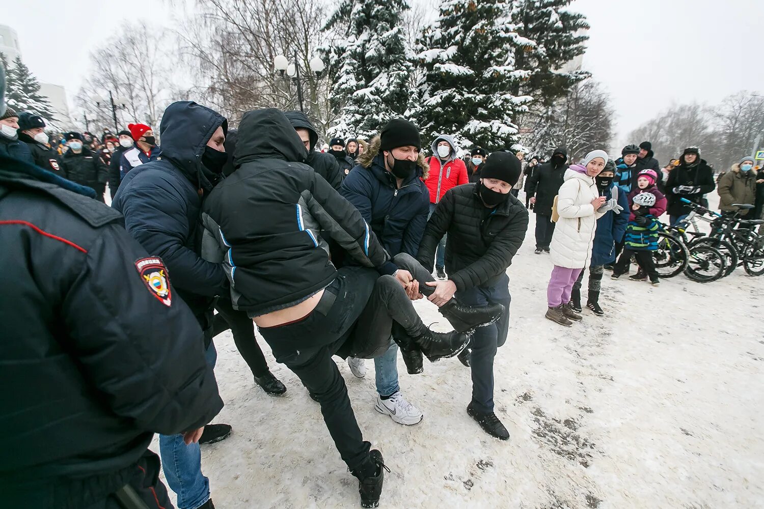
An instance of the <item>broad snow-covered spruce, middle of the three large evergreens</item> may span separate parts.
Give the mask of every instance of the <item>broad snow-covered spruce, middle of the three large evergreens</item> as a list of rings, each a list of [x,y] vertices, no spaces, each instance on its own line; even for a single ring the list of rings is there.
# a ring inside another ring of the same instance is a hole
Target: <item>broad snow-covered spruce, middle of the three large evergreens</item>
[[[426,69],[411,113],[427,140],[451,134],[465,148],[511,148],[513,116],[531,100],[514,95],[530,75],[517,69],[515,50],[532,43],[514,31],[511,2],[448,0],[417,45]]]

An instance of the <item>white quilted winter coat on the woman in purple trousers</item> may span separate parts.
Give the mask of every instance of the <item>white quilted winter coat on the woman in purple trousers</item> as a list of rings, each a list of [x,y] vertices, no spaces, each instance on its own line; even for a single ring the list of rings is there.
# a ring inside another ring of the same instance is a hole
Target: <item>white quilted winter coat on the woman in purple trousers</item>
[[[552,263],[556,266],[584,269],[590,263],[597,219],[604,215],[594,211],[591,205],[597,196],[594,179],[574,169],[565,170],[565,182],[557,197],[560,218],[549,245]]]

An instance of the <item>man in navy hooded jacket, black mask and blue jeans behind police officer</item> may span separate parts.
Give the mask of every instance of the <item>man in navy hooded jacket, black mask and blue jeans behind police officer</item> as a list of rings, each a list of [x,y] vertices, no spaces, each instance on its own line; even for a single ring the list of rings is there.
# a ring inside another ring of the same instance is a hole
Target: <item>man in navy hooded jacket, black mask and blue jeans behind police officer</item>
[[[215,296],[228,295],[228,278],[222,266],[200,256],[199,214],[221,178],[227,131],[228,121],[216,111],[192,101],[174,102],[164,111],[160,125],[162,158],[128,172],[112,202],[125,216],[128,233],[167,266],[173,290],[204,331],[207,362],[212,366],[217,356],[212,306]],[[230,433],[228,424],[208,424],[200,442],[223,440]],[[212,508],[199,444],[186,445],[182,435],[160,435],[159,447],[167,484],[178,495],[177,506]]]

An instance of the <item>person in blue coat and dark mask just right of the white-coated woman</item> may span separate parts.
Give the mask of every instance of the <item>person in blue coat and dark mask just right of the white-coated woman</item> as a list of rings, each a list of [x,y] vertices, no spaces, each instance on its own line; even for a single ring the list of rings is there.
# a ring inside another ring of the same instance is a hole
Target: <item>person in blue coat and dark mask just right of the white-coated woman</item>
[[[608,161],[605,169],[594,178],[597,182],[597,190],[607,201],[599,212],[605,214],[597,219],[597,231],[594,234],[594,246],[591,250],[591,262],[589,263],[589,295],[586,307],[594,314],[602,315],[604,311],[600,307],[600,288],[604,266],[616,260],[616,245],[623,242],[623,234],[626,232],[626,224],[629,222],[629,198],[627,193],[613,182],[616,165]],[[581,312],[581,282],[584,280],[584,272],[578,275],[573,285],[571,306],[573,311]]]

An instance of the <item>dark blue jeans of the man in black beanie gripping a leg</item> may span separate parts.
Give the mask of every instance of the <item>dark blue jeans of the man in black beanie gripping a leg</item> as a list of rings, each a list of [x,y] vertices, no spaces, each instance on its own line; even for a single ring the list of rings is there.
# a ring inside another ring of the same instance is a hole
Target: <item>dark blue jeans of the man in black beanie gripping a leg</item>
[[[503,304],[507,308],[495,324],[478,327],[470,343],[472,370],[472,406],[481,414],[494,411],[494,357],[499,346],[507,341],[510,325],[510,279],[505,274],[495,285],[478,286],[456,292],[461,304],[484,306]]]

